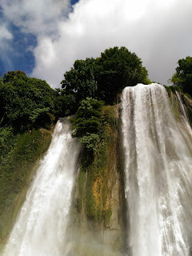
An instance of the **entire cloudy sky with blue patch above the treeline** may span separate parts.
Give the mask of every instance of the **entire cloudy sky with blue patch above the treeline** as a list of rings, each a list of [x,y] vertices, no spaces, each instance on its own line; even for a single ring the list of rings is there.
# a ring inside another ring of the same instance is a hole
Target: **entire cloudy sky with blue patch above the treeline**
[[[151,81],[168,84],[192,56],[191,0],[1,0],[0,72],[23,70],[61,87],[76,59],[126,46]]]

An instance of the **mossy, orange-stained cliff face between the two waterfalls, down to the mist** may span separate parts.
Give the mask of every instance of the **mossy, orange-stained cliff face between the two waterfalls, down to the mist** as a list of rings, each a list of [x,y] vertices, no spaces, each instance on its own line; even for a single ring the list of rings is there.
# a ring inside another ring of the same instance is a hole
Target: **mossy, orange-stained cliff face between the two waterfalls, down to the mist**
[[[82,153],[69,232],[79,255],[122,252],[122,170],[118,162],[118,106],[103,110],[103,140],[93,159]],[[79,250],[79,247],[81,250]],[[97,249],[96,249],[97,248]]]

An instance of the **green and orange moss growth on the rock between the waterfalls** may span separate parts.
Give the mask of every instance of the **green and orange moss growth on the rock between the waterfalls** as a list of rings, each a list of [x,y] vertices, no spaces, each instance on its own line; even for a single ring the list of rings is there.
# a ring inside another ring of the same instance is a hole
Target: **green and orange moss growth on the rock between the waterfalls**
[[[82,166],[78,174],[77,209],[78,212],[85,211],[86,217],[94,223],[102,222],[107,226],[112,214],[110,208],[112,186],[109,181],[110,175],[113,175],[117,155],[117,106],[103,106],[99,123],[98,138],[94,143],[92,154],[87,154],[85,146]]]

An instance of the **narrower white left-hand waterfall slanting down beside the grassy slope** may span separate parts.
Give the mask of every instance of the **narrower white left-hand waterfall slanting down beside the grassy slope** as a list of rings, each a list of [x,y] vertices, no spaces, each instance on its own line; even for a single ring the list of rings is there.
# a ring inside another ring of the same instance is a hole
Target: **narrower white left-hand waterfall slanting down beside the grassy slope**
[[[10,234],[5,256],[66,255],[64,239],[80,144],[61,118]]]

